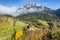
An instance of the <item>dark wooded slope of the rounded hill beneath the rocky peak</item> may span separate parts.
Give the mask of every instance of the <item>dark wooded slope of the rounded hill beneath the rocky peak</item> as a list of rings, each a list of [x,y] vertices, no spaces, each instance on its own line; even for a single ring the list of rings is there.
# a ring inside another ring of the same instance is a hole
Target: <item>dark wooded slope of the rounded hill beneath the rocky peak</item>
[[[23,19],[23,20],[28,20],[28,21],[32,21],[33,19],[42,19],[45,21],[55,21],[56,20],[56,16],[50,13],[43,13],[43,12],[39,12],[39,13],[28,13],[28,14],[24,14],[24,15],[19,15],[17,16],[17,18],[19,19]]]

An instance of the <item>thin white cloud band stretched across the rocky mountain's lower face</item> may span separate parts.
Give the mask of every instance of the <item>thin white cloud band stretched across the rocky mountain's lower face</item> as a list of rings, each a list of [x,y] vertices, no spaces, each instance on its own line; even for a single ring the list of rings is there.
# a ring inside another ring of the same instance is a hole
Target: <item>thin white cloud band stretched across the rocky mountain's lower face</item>
[[[23,9],[17,10],[17,14],[21,15],[21,14],[27,14],[27,13],[31,13],[31,12],[40,12],[42,10],[44,10],[44,9],[41,9],[41,8],[40,9],[37,9],[37,8],[26,9],[26,8],[23,8]]]

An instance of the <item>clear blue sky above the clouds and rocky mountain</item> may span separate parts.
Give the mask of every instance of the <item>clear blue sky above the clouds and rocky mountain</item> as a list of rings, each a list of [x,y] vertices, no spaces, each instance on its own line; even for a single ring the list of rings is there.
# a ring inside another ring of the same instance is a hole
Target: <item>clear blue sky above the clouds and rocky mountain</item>
[[[30,3],[39,3],[52,9],[60,8],[60,0],[0,0],[0,4],[7,7],[15,6],[19,8]]]

